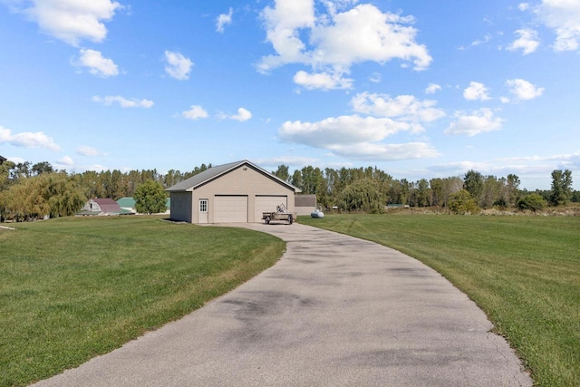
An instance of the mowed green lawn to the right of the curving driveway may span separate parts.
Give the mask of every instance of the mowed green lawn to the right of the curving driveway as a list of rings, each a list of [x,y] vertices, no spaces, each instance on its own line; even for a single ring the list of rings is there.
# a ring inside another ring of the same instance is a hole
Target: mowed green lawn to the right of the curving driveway
[[[299,221],[419,259],[488,314],[537,385],[580,386],[580,218],[389,214]]]

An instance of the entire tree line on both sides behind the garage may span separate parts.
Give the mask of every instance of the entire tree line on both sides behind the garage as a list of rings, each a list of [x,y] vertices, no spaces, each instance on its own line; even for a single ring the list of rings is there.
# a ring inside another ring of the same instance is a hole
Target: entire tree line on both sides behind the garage
[[[186,172],[170,169],[165,174],[157,169],[69,173],[53,169],[46,161],[36,164],[5,161],[0,164],[0,221],[70,216],[89,198],[141,198],[153,191],[160,196],[162,189],[209,168],[211,164],[201,164]],[[448,208],[452,212],[475,212],[478,208],[492,207],[535,211],[547,205],[580,201],[580,192],[572,190],[572,172],[567,169],[552,172],[551,189],[535,192],[520,189],[517,175],[498,178],[484,176],[476,170],[469,170],[463,176],[417,181],[394,179],[376,167],[306,166],[290,174],[288,166],[280,165],[272,173],[301,189],[303,194],[316,195],[319,207],[343,211],[377,213],[388,205]],[[138,192],[140,187],[142,192]],[[147,200],[143,197],[142,202]],[[155,212],[150,208],[141,209],[141,212]]]

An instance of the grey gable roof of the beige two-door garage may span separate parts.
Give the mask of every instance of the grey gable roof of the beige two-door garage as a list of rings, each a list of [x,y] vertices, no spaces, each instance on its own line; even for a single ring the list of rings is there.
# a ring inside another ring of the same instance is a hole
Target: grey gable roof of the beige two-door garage
[[[256,164],[251,163],[248,160],[230,162],[228,164],[218,165],[216,167],[212,167],[210,169],[206,169],[201,173],[198,173],[195,176],[192,176],[189,179],[185,179],[176,185],[169,187],[169,189],[165,189],[169,192],[179,192],[179,191],[192,191],[197,189],[198,187],[207,184],[209,181],[218,179],[220,176],[227,174],[228,172],[238,169],[242,166],[247,166],[251,169],[256,170],[257,172],[266,176],[266,178],[273,179],[278,183],[282,184],[288,189],[291,189],[295,192],[302,192],[300,189],[296,188],[292,184],[288,183],[287,181],[278,178],[275,174],[268,172],[266,169],[262,169],[258,167]]]

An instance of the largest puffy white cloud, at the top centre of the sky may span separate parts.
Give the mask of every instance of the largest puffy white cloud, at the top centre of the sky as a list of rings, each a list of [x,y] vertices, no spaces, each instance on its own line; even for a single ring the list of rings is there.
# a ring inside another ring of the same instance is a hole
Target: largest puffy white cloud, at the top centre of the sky
[[[302,72],[295,77],[297,81],[311,88],[320,84],[329,89],[344,88],[344,83],[329,82],[328,74],[334,74],[331,79],[341,79],[336,74],[349,73],[353,63],[401,59],[414,63],[415,70],[430,65],[427,48],[415,42],[417,30],[409,25],[413,23],[412,16],[383,14],[368,4],[339,12],[355,3],[325,1],[328,15],[315,14],[314,0],[277,0],[274,8],[266,6],[262,12],[266,40],[275,54],[262,57],[258,71],[267,73],[287,63],[302,63],[312,66],[314,75],[327,74],[326,80],[307,78]],[[310,36],[307,42],[302,40],[304,34]]]

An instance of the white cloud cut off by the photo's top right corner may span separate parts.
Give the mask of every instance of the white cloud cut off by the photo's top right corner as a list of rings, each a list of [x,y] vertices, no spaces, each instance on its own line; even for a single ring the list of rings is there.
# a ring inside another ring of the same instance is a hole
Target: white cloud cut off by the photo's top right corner
[[[575,51],[580,47],[580,2],[576,0],[542,0],[536,15],[556,33],[556,51]]]

